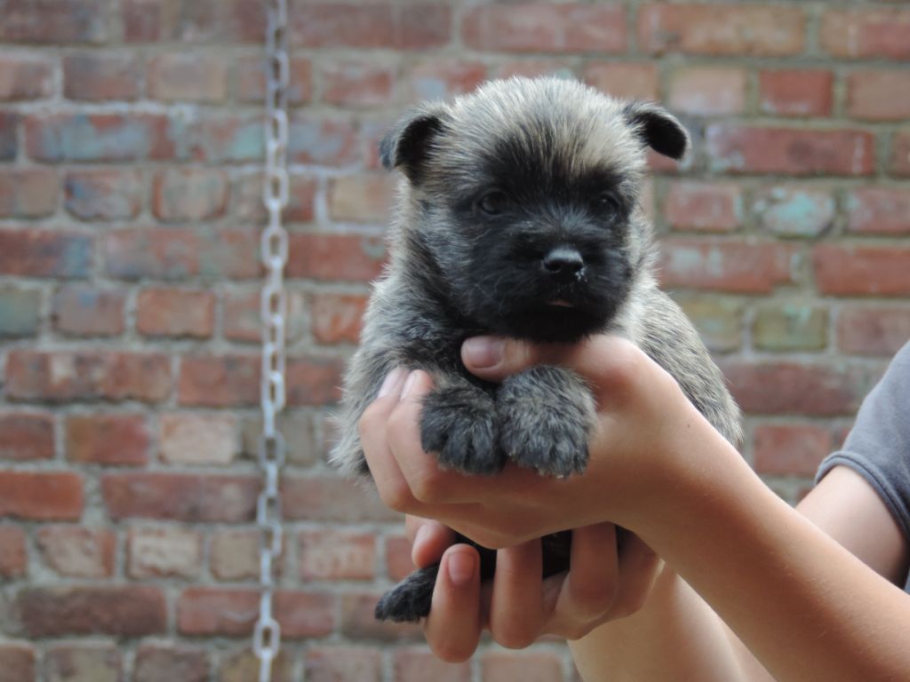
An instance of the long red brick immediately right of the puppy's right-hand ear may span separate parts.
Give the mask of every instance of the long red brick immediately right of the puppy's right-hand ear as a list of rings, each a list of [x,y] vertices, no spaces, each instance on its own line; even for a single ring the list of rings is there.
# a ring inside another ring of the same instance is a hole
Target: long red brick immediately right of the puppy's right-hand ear
[[[861,130],[722,123],[708,126],[706,143],[713,171],[868,176],[875,169],[875,135]]]

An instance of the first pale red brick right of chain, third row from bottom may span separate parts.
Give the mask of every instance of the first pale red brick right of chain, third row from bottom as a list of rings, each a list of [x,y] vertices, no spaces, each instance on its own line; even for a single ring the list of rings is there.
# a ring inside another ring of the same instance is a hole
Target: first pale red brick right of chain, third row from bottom
[[[372,533],[305,530],[298,543],[301,580],[372,580],[376,576]]]

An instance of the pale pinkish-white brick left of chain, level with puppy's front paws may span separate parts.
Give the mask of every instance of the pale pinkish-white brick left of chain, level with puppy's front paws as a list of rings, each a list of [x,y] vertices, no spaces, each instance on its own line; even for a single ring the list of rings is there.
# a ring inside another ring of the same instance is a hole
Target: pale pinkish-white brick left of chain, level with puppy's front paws
[[[159,456],[168,464],[228,465],[238,455],[236,416],[175,412],[158,423]]]

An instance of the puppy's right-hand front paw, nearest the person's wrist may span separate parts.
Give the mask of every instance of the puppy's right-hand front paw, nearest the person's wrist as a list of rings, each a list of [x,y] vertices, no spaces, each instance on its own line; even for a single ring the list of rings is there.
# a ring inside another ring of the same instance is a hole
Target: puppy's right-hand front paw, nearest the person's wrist
[[[505,456],[541,474],[569,476],[588,464],[594,399],[581,377],[536,366],[502,382],[496,396]]]

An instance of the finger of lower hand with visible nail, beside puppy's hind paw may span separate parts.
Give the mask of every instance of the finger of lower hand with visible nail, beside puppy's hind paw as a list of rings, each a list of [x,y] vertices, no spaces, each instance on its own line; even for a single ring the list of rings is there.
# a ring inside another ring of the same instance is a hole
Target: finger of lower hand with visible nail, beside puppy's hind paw
[[[477,648],[480,626],[480,556],[454,545],[442,556],[424,634],[437,657],[460,663]]]

